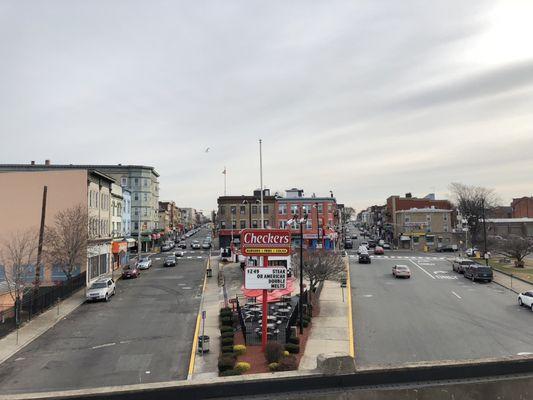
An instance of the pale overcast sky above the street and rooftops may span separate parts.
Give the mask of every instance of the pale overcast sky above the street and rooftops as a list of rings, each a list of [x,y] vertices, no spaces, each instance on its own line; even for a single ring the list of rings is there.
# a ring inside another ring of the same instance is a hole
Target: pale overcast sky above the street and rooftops
[[[145,164],[161,198],[360,210],[533,193],[533,2],[0,1],[0,162]],[[205,152],[209,147],[210,151]]]

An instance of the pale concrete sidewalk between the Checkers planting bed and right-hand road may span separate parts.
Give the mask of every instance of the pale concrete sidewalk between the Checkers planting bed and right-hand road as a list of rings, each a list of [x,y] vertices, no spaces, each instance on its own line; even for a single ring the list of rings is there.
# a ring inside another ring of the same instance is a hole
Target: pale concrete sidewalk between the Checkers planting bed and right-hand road
[[[347,288],[341,288],[339,282],[324,282],[319,299],[320,314],[313,318],[311,333],[298,370],[316,369],[316,359],[321,353],[350,354],[349,295]]]

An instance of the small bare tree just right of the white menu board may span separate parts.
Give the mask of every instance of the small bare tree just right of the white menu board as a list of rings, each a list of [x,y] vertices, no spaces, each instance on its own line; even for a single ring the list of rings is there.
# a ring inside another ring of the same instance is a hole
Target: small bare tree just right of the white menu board
[[[299,273],[300,255],[292,256],[293,270]],[[345,272],[345,264],[339,253],[324,249],[308,249],[303,253],[304,278],[309,281],[311,292],[315,292],[320,282],[340,280]]]

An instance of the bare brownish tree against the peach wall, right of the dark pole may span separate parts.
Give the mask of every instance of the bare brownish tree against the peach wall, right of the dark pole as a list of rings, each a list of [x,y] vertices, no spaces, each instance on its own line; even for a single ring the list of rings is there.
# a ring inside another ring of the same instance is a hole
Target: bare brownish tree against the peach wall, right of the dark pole
[[[44,258],[61,267],[67,279],[87,257],[88,215],[83,205],[59,211],[54,225],[46,227]]]

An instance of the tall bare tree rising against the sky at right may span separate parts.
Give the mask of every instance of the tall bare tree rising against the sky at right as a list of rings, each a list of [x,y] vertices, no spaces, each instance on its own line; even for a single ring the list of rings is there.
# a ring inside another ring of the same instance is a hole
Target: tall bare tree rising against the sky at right
[[[458,182],[450,184],[450,191],[459,213],[466,219],[472,242],[480,242],[483,212],[496,206],[497,196],[492,189]]]

